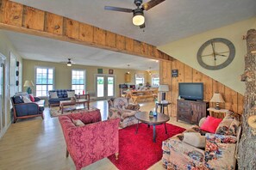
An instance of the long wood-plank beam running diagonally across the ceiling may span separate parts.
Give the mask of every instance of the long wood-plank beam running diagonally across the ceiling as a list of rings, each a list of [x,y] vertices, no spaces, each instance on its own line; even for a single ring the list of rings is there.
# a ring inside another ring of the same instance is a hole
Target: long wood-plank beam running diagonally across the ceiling
[[[147,43],[9,0],[0,0],[0,28],[145,58],[173,59]]]

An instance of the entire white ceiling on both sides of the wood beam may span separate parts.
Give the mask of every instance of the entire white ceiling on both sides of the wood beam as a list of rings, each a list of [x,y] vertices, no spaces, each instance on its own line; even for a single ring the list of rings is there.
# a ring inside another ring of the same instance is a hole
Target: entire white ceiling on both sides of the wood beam
[[[132,24],[132,14],[104,10],[104,6],[134,9],[134,0],[13,0],[36,9],[64,15],[137,39],[154,46],[245,20],[256,15],[256,0],[165,0],[145,11],[146,28]],[[144,1],[144,3],[148,0]],[[147,58],[79,46],[22,33],[7,33],[24,58],[60,62],[72,58],[77,64],[148,70],[159,64]],[[158,69],[156,69],[158,70]]]

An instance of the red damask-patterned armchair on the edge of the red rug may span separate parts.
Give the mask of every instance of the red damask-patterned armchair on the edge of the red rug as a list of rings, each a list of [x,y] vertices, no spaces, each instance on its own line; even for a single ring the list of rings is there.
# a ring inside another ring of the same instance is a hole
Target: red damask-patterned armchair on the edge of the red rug
[[[76,126],[72,119],[80,119],[85,125]],[[118,158],[120,118],[101,121],[97,110],[59,116],[59,122],[66,140],[66,157],[71,155],[77,170],[109,155]]]

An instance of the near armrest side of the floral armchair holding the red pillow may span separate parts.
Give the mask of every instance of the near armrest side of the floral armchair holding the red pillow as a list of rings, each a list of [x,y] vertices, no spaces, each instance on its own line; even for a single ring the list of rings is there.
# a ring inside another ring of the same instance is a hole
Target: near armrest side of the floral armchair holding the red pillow
[[[234,169],[237,137],[207,133],[205,161],[209,168]]]

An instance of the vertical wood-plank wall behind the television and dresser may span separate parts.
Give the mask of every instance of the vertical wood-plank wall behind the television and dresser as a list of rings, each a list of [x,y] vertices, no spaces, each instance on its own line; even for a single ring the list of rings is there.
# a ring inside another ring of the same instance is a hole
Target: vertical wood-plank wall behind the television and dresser
[[[172,70],[178,70],[178,77],[172,77]],[[209,76],[191,68],[190,66],[173,60],[172,62],[160,62],[159,68],[160,84],[168,84],[171,89],[166,94],[169,105],[169,115],[177,116],[178,82],[203,82],[203,99],[209,101],[215,92],[222,94],[225,103],[220,104],[222,108],[242,114],[244,96],[226,87],[220,82],[215,81]],[[209,103],[209,106],[215,104]]]

